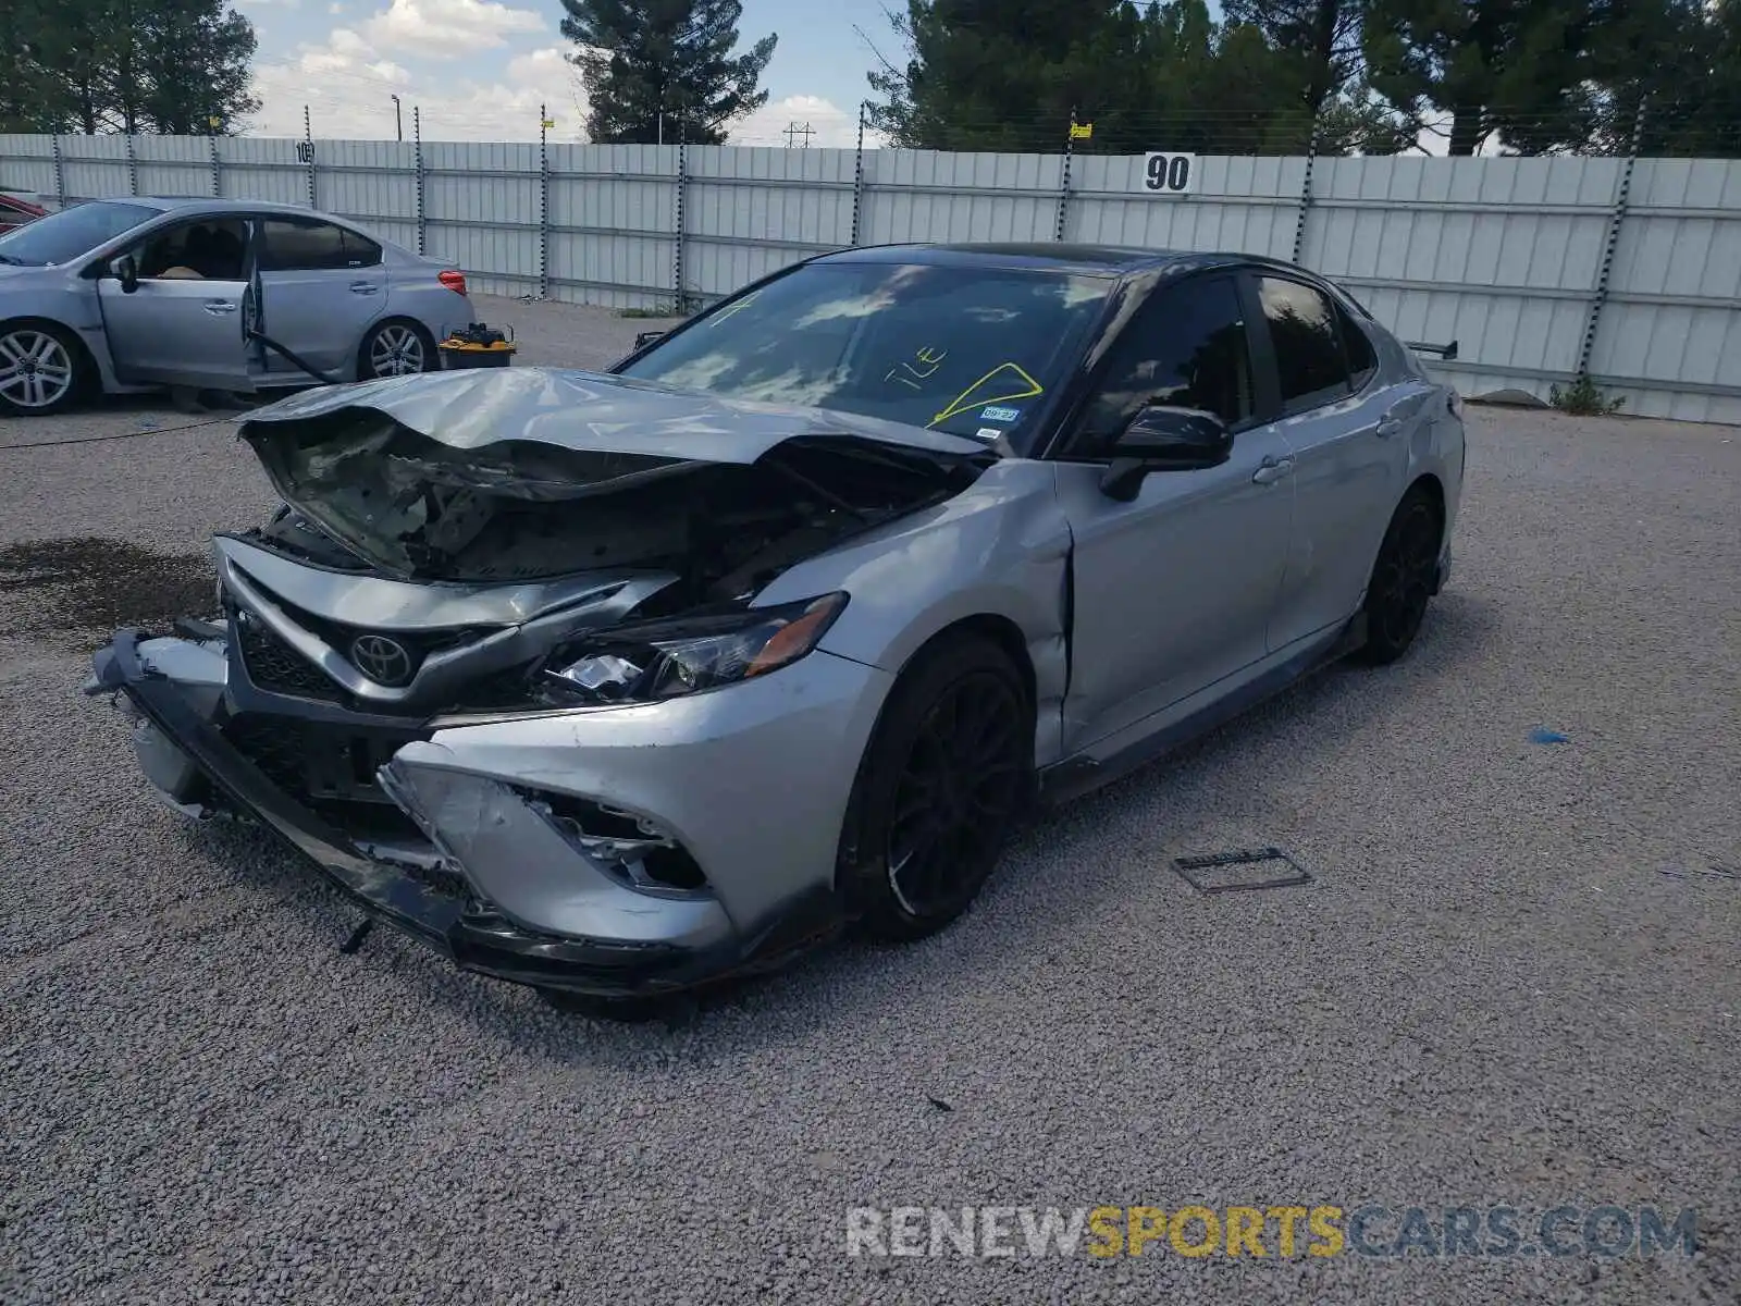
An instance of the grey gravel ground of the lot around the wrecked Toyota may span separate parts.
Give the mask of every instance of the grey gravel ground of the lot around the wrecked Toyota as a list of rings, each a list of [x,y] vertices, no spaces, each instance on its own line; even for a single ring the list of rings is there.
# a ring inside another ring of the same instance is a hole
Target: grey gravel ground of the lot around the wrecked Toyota
[[[521,362],[648,326],[479,310]],[[188,420],[111,404],[0,446]],[[1741,1294],[1741,881],[1710,871],[1741,867],[1736,432],[1480,411],[1457,573],[1402,665],[1078,803],[944,937],[651,1026],[383,930],[341,953],[353,911],[158,808],[75,697],[108,625],[204,594],[207,533],[268,507],[228,425],[0,460],[7,1303]],[[1168,869],[1252,841],[1316,885]],[[1704,1250],[844,1256],[858,1205],[1187,1202],[1694,1205]]]

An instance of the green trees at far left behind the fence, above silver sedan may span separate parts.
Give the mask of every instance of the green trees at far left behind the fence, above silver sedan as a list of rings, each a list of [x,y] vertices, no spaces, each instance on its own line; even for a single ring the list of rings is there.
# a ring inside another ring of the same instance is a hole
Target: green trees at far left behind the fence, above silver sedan
[[[228,0],[24,0],[0,5],[0,131],[235,131],[254,28]]]

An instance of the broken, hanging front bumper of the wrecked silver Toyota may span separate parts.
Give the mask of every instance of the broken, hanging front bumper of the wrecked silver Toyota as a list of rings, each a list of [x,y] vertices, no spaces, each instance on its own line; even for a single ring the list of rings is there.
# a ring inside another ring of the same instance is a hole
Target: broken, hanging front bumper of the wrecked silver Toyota
[[[886,681],[818,651],[689,700],[437,721],[357,763],[374,804],[350,810],[397,818],[367,829],[286,784],[275,757],[313,752],[237,731],[261,695],[225,627],[122,630],[85,691],[125,698],[139,766],[183,815],[268,825],[463,970],[627,998],[771,968],[837,928],[836,843]],[[676,869],[625,876],[655,855]]]

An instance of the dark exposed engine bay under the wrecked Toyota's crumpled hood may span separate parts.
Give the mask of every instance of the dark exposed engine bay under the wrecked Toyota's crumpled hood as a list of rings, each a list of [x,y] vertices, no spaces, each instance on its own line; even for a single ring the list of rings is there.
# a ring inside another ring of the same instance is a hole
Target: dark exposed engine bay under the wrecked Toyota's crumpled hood
[[[869,441],[789,441],[736,465],[528,441],[454,449],[355,409],[310,425],[254,435],[292,507],[244,538],[421,582],[670,569],[681,580],[662,613],[747,603],[794,562],[978,475],[970,460]]]

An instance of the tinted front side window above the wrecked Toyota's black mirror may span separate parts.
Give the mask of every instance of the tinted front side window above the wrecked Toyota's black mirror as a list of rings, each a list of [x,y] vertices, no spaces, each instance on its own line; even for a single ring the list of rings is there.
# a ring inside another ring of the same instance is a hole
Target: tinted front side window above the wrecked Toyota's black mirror
[[[1154,293],[1107,353],[1074,453],[1104,453],[1147,404],[1207,409],[1227,425],[1252,416],[1252,359],[1231,277]]]

